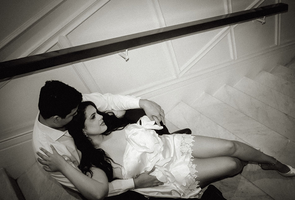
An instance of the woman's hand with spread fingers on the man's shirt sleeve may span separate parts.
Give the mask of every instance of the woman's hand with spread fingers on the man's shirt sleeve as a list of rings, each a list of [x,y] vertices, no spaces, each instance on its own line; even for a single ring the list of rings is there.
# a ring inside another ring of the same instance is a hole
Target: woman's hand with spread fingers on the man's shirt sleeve
[[[47,172],[62,172],[65,169],[67,161],[62,157],[59,153],[57,153],[56,149],[50,145],[53,153],[49,153],[44,148],[40,147],[40,150],[43,151],[46,155],[36,152],[37,155],[41,158],[38,158],[38,162],[43,165],[43,168]]]

